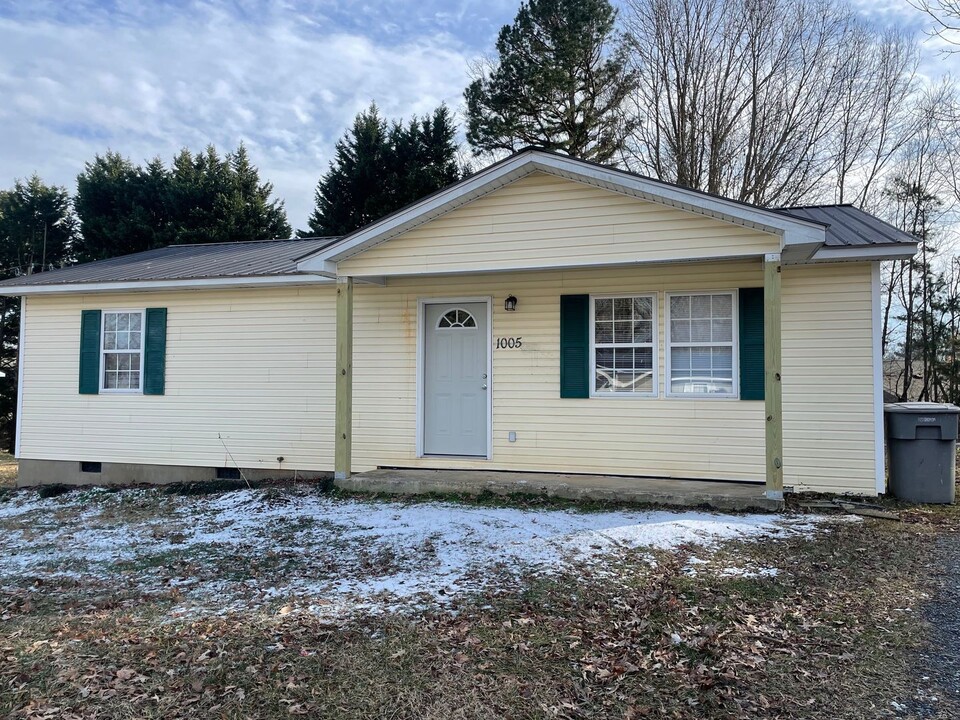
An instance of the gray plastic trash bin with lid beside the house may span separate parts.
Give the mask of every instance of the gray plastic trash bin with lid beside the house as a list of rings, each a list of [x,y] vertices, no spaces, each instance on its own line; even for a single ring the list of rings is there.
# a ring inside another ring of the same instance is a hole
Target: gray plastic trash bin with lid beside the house
[[[890,492],[909,502],[954,502],[960,407],[906,402],[885,410]]]

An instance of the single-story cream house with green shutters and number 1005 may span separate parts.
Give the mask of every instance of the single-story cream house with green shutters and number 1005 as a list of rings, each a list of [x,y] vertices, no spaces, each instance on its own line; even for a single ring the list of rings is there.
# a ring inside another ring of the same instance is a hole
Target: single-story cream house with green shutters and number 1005
[[[407,467],[875,494],[879,262],[915,248],[849,206],[526,150],[339,240],[8,280],[20,482]]]

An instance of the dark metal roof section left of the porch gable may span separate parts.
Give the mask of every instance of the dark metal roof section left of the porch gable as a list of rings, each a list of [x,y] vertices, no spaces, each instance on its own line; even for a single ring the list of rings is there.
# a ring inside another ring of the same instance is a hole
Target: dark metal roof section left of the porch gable
[[[21,275],[0,282],[0,287],[293,275],[297,273],[297,258],[335,242],[337,238],[327,237],[170,245],[109,260]]]

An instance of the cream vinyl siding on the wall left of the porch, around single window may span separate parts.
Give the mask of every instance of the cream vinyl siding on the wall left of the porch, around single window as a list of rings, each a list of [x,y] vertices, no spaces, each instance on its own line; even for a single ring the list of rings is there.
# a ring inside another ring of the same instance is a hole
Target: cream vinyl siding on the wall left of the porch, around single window
[[[165,394],[80,395],[81,310],[143,307],[168,310]],[[315,287],[28,298],[20,455],[330,469],[333,307]]]

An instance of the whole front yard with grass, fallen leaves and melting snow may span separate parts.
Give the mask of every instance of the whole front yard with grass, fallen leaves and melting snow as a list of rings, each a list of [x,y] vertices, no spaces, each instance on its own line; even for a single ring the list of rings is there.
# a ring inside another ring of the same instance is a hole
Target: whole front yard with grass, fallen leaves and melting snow
[[[0,495],[0,715],[910,717],[960,525],[315,495]]]

